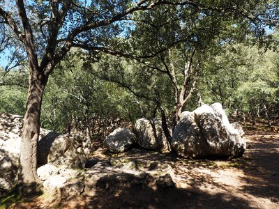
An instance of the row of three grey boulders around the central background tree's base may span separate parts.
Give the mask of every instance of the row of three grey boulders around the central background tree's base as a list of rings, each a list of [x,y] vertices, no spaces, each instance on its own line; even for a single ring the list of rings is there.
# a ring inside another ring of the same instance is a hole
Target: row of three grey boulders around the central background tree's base
[[[246,149],[241,125],[230,124],[220,103],[204,104],[195,111],[184,111],[181,121],[174,128],[169,145],[161,121],[157,118],[141,118],[135,123],[137,145],[146,150],[169,151],[186,158],[240,157]],[[135,140],[127,138],[128,130],[117,129],[104,144],[112,152],[119,153],[133,148]],[[129,132],[130,136],[133,136]],[[134,139],[134,138],[133,138]]]

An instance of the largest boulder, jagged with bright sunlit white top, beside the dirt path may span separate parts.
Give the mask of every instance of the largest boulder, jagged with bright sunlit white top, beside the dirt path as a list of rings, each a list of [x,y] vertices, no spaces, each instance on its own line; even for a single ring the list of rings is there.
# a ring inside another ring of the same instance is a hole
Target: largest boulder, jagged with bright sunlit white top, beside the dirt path
[[[246,149],[243,134],[234,128],[220,103],[183,113],[174,128],[172,147],[187,158],[240,157]]]

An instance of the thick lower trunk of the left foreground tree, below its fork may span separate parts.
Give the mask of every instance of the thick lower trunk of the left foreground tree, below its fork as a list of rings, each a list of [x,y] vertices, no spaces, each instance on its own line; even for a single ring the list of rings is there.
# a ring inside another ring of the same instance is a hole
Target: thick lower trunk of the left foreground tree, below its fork
[[[20,146],[19,183],[38,182],[37,147],[40,134],[40,110],[46,84],[46,76],[34,70],[31,72]]]

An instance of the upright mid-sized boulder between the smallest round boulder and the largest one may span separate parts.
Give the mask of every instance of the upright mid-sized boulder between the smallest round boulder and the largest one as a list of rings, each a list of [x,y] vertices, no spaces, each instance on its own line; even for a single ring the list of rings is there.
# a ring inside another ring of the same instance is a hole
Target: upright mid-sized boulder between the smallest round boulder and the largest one
[[[158,118],[141,118],[135,123],[137,144],[147,150],[168,151],[171,150],[165,137],[162,121]]]

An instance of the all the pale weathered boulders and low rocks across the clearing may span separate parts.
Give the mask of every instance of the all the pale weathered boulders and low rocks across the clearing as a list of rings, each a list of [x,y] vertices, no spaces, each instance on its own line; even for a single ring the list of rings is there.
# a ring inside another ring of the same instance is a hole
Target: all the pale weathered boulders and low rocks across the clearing
[[[13,187],[20,155],[23,118],[0,115],[0,191]],[[140,169],[137,162],[109,159],[96,161],[86,168],[91,141],[80,134],[57,134],[41,129],[38,142],[38,177],[47,191],[66,194],[92,194],[100,189],[118,189],[141,184],[157,188],[174,187],[175,175],[169,164],[153,162]],[[185,111],[174,128],[169,144],[161,121],[141,118],[135,123],[135,134],[116,129],[104,141],[113,153],[140,146],[146,150],[169,151],[182,157],[239,157],[246,149],[241,125],[230,124],[221,104],[203,105],[195,111]],[[115,174],[120,173],[120,174]],[[108,187],[108,188],[107,188]]]

